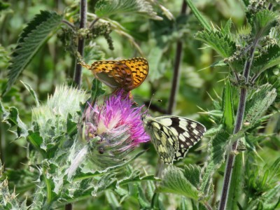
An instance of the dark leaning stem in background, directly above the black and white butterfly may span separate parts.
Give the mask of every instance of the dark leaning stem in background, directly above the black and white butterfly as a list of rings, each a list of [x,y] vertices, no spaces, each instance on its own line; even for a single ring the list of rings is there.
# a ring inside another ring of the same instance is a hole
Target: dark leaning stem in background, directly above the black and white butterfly
[[[185,0],[183,0],[181,14],[186,14],[186,10],[187,10],[187,3]],[[172,111],[176,106],[176,95],[178,92],[179,80],[180,80],[180,62],[182,57],[182,49],[183,49],[183,43],[181,41],[177,41],[172,89],[170,92],[169,106],[167,109],[167,114],[169,115],[172,114]]]

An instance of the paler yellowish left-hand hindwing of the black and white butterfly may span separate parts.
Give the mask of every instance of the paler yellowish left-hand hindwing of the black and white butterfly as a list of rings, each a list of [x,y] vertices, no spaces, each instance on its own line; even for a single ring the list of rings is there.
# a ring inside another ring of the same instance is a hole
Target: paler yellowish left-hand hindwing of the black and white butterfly
[[[167,165],[172,164],[174,155],[179,149],[177,137],[174,136],[172,130],[158,122],[156,118],[146,116],[144,124],[160,159]]]

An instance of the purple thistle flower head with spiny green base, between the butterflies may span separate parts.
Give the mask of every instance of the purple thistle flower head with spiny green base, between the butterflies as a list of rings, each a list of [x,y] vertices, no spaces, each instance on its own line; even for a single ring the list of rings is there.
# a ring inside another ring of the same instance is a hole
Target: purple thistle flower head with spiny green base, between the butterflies
[[[150,140],[141,120],[141,107],[133,108],[130,95],[113,94],[103,105],[85,110],[85,139],[93,146],[93,161],[109,167],[123,161],[127,153]]]

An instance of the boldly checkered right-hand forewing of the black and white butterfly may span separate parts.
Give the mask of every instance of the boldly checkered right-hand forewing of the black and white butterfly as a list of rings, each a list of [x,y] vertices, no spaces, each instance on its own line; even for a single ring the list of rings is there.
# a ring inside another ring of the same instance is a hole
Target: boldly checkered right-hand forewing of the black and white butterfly
[[[168,127],[179,142],[179,149],[174,154],[174,160],[180,160],[186,156],[188,149],[202,139],[206,128],[201,123],[188,118],[178,116],[156,117],[162,126]]]

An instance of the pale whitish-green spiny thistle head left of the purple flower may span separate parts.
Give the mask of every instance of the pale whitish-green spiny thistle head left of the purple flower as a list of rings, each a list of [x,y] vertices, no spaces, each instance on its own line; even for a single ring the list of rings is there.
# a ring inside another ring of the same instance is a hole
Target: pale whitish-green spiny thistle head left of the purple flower
[[[59,137],[66,132],[69,113],[72,121],[78,121],[80,102],[84,103],[86,99],[84,91],[62,85],[48,97],[46,104],[32,109],[32,122],[37,123],[45,144],[51,144],[54,140],[52,137]]]

